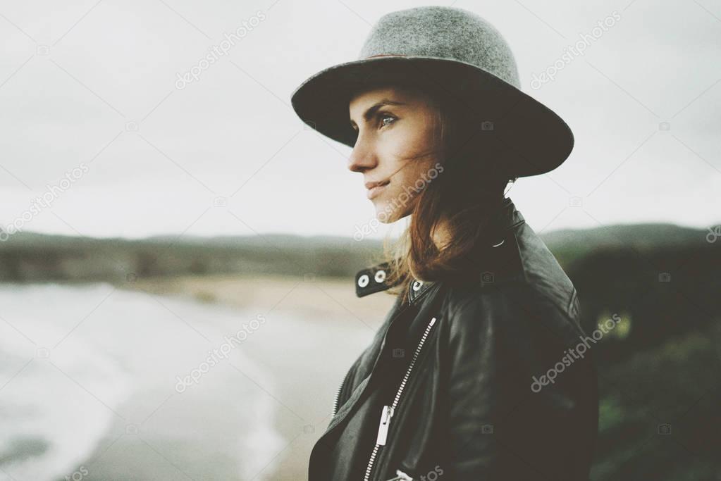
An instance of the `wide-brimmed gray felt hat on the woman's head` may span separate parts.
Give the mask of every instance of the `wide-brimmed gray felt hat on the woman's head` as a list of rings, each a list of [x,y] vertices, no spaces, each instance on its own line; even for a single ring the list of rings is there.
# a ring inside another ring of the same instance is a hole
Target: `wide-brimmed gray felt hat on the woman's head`
[[[358,60],[326,68],[293,92],[298,117],[353,147],[349,102],[363,85],[420,81],[441,89],[482,120],[478,135],[510,177],[544,174],[573,148],[561,117],[521,91],[513,53],[500,32],[477,14],[420,6],[385,14],[373,25]],[[486,153],[487,154],[487,153]]]

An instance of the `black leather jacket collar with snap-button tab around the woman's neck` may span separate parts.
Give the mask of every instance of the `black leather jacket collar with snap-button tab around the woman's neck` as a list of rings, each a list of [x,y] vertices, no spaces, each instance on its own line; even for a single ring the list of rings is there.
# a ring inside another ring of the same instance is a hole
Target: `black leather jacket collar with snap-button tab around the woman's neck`
[[[518,268],[521,269],[522,274],[520,253],[513,229],[526,220],[523,219],[521,212],[518,212],[510,197],[503,200],[495,222],[494,238],[487,245],[479,246],[479,250],[474,252],[472,268],[469,270],[471,278],[479,279],[482,286],[497,285],[505,280],[515,279],[518,277]],[[364,297],[392,287],[386,282],[391,268],[388,262],[381,262],[358,271],[355,274],[355,295]],[[408,289],[409,302],[415,304],[435,284],[438,282],[412,279],[411,287]]]

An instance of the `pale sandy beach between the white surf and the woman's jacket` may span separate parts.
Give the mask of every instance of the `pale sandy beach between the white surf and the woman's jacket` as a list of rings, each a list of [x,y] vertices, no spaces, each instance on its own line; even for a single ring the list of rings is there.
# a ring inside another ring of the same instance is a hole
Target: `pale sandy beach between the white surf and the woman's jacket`
[[[259,473],[259,478],[269,480],[307,479],[310,451],[329,422],[337,382],[370,343],[394,302],[384,293],[356,297],[352,278],[182,276],[118,287],[262,312],[270,322],[278,315],[288,316],[275,334],[259,334],[244,353],[275,375],[284,394],[276,396],[283,404],[275,405],[272,427],[283,436],[285,447],[268,461],[275,469]],[[267,338],[260,338],[265,334]],[[284,338],[298,342],[284,344],[279,358],[275,344]]]

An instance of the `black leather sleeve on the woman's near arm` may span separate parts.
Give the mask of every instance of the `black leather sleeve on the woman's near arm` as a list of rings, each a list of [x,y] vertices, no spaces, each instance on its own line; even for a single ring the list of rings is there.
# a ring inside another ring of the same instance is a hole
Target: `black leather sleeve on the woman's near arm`
[[[441,349],[446,480],[588,479],[596,379],[583,363],[565,367],[554,383],[533,384],[575,336],[562,310],[500,294],[449,314]]]

